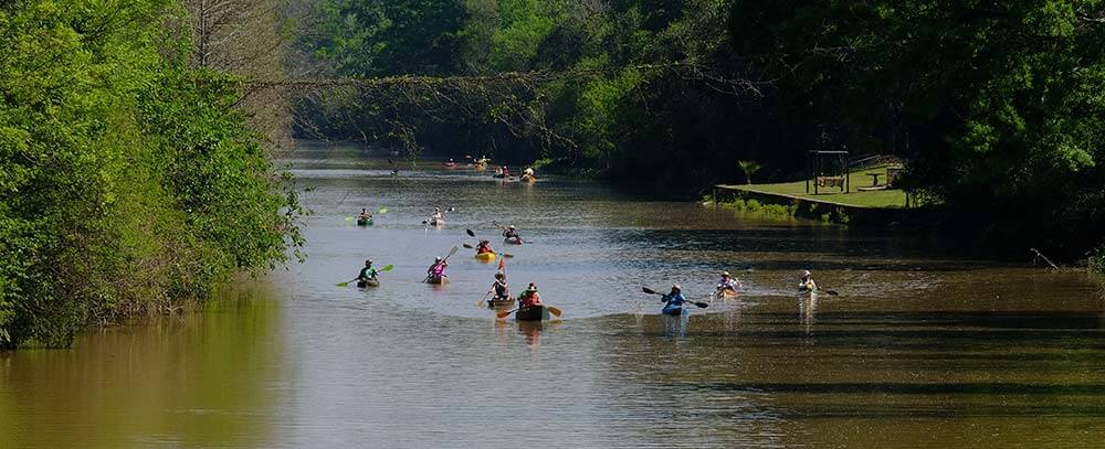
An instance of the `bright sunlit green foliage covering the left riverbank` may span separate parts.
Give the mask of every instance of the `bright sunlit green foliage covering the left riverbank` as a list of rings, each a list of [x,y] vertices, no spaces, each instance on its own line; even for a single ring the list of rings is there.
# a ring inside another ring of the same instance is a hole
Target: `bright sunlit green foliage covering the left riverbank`
[[[233,113],[239,84],[147,25],[180,11],[0,7],[0,348],[203,299],[299,242],[294,194]]]

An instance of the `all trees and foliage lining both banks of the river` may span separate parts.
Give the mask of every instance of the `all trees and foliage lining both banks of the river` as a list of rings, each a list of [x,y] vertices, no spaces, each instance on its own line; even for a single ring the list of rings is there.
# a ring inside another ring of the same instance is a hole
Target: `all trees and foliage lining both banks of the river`
[[[785,190],[810,150],[892,154],[938,205],[930,228],[1102,270],[1101,8],[4,2],[0,348],[65,346],[298,257],[303,211],[270,162],[293,132],[684,199]]]

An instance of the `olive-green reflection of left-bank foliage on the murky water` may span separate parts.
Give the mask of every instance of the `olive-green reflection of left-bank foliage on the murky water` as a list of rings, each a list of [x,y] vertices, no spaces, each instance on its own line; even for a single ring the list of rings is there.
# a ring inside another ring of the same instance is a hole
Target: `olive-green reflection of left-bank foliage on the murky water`
[[[263,290],[203,313],[83,335],[71,350],[2,354],[0,446],[266,446],[284,382],[278,304]]]

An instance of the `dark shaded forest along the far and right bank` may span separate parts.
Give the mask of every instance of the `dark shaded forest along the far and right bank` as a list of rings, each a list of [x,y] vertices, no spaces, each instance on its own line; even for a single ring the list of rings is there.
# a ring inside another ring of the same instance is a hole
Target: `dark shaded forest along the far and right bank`
[[[322,0],[303,135],[694,196],[813,149],[908,161],[948,229],[1105,254],[1105,2]],[[414,76],[411,76],[414,75]],[[460,145],[457,145],[460,143]],[[1101,260],[1098,258],[1098,260]]]

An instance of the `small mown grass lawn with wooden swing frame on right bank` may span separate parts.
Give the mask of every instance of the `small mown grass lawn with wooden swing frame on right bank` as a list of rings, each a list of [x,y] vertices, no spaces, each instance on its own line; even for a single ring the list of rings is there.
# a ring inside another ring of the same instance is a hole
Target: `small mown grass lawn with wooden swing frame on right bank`
[[[839,188],[819,189],[821,194],[813,194],[813,184],[810,183],[810,193],[806,193],[806,181],[782,182],[777,184],[751,184],[751,185],[724,185],[746,190],[750,192],[768,193],[783,196],[810,199],[830,203],[845,204],[857,207],[905,207],[905,192],[901,190],[877,190],[872,192],[860,192],[856,188],[871,185],[871,177],[867,173],[882,173],[878,177],[880,183],[886,182],[886,167],[874,167],[867,170],[852,172],[852,192],[840,193]]]

